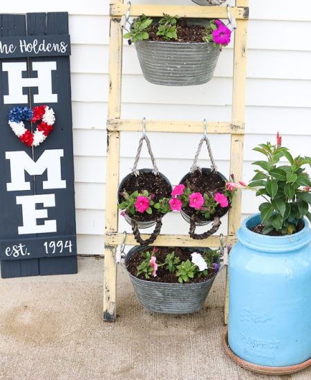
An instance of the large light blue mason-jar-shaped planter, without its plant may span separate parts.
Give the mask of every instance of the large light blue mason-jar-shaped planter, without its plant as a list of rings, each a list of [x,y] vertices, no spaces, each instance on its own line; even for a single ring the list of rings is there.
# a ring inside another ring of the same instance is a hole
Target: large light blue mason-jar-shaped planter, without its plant
[[[290,236],[265,236],[243,221],[229,254],[229,347],[250,363],[281,367],[311,357],[311,245],[305,220]]]

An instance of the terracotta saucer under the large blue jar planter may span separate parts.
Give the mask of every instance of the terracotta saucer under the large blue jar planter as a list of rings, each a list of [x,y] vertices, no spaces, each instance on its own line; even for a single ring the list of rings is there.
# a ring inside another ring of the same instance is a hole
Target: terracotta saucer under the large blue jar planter
[[[288,365],[286,367],[269,367],[265,365],[253,364],[253,363],[250,363],[249,361],[243,360],[240,357],[236,356],[236,354],[234,354],[232,350],[230,350],[229,348],[227,326],[223,328],[221,341],[223,343],[223,348],[225,350],[225,353],[228,355],[228,357],[232,359],[236,364],[252,372],[261,373],[261,374],[291,374],[291,373],[304,370],[305,368],[308,368],[311,365],[311,359],[308,359],[307,361],[303,361],[303,363]]]

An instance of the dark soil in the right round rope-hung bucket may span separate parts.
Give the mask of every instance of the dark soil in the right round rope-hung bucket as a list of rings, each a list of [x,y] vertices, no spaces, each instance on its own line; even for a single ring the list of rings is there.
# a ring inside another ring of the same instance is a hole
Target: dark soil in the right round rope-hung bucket
[[[193,173],[189,173],[187,178],[183,179],[180,183],[185,184],[185,187],[189,187],[194,193],[207,193],[209,197],[213,198],[216,193],[222,193],[224,191],[226,182],[218,173],[205,170],[202,170],[201,172],[200,170],[196,170]],[[220,207],[220,205],[218,205],[216,207],[216,212],[210,220],[214,220],[215,216],[219,216],[219,218],[224,216],[228,210],[229,207]],[[185,213],[191,218],[194,217],[195,220],[206,220],[204,215],[202,213],[197,213],[193,207],[183,207],[182,211],[185,211]]]

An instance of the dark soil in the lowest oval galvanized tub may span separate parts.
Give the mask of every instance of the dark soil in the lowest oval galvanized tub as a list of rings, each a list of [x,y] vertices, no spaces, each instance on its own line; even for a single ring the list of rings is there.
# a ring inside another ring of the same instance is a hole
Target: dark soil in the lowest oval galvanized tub
[[[149,249],[146,249],[145,251],[148,251]],[[171,254],[172,252],[175,252],[175,256],[178,256],[181,261],[185,261],[189,259],[191,261],[191,253],[195,250],[189,250],[187,248],[182,247],[158,247],[158,251],[156,251],[156,254],[153,256],[156,256],[157,258],[157,264],[164,263],[165,257],[167,254]],[[136,277],[137,274],[137,268],[140,263],[142,263],[142,251],[135,252],[135,254],[131,255],[129,259],[126,260],[126,268],[127,270]],[[209,280],[209,278],[214,277],[216,272],[214,269],[209,269],[209,274],[207,276],[197,277],[189,281],[188,283],[202,283],[204,281]],[[140,274],[138,278],[141,278],[142,280],[146,281],[152,281],[154,283],[178,283],[178,277],[174,273],[170,273],[167,269],[165,269],[165,266],[158,267],[157,270],[157,276],[150,278],[144,278],[143,274]]]

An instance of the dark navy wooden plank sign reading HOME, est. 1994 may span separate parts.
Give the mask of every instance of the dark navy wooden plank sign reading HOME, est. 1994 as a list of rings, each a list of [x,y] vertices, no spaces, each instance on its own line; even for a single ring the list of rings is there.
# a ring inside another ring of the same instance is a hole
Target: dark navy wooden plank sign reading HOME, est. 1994
[[[0,22],[1,276],[76,273],[68,14]]]

